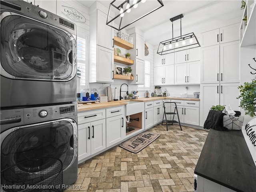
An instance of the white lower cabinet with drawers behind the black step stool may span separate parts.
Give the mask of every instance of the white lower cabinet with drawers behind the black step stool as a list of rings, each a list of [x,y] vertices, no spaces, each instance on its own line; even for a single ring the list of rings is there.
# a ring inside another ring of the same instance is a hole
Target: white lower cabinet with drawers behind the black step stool
[[[172,102],[176,102],[181,123],[199,126],[199,101],[172,100]],[[171,112],[174,110],[175,104],[172,104]],[[178,121],[177,115],[174,115],[174,120]]]

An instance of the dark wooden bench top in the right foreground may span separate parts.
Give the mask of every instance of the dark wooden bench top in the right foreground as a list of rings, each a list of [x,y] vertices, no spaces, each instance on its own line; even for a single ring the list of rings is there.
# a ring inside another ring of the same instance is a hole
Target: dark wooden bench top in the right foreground
[[[194,172],[235,191],[256,191],[256,167],[238,130],[210,129]]]

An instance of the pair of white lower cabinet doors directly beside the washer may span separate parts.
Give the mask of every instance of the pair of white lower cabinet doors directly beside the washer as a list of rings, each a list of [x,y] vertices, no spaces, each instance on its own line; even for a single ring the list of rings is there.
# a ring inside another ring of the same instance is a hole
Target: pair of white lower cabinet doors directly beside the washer
[[[78,161],[106,148],[105,119],[78,124]]]

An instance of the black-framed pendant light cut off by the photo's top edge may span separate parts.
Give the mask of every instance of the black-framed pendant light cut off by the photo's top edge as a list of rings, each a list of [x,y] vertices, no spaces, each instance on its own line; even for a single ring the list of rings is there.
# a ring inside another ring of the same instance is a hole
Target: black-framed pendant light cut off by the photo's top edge
[[[164,6],[162,0],[114,0],[110,3],[106,24],[121,30]]]

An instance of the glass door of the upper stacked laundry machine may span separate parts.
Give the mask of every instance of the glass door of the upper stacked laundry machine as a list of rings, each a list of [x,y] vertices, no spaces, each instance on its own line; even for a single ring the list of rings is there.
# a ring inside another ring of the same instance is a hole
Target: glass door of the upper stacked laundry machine
[[[68,81],[76,75],[71,34],[16,13],[1,13],[1,75]]]

